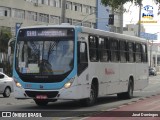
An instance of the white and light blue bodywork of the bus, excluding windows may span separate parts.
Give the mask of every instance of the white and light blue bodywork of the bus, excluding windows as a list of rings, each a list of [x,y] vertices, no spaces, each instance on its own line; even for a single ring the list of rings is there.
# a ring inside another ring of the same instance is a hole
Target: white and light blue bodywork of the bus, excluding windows
[[[48,26],[45,26],[46,28]],[[54,28],[54,26],[51,26]],[[56,26],[60,28],[67,28],[67,26]],[[68,28],[73,26],[68,26]],[[33,27],[34,28],[34,27]],[[39,27],[43,28],[43,27]],[[134,90],[143,89],[148,85],[148,63],[121,63],[121,62],[91,62],[89,55],[89,35],[102,36],[102,37],[115,37],[118,40],[125,39],[128,41],[146,43],[143,39],[131,37],[127,35],[120,35],[117,33],[105,32],[101,30],[93,30],[84,27],[73,27],[75,29],[74,39],[74,68],[72,72],[62,82],[57,83],[30,83],[23,82],[16,70],[15,63],[13,68],[13,76],[22,85],[22,88],[15,86],[15,97],[19,99],[35,99],[26,95],[25,91],[33,92],[56,92],[56,97],[50,99],[68,99],[68,100],[79,100],[88,98],[90,96],[90,89],[93,79],[98,80],[98,96],[105,96],[107,94],[123,93],[128,91],[128,84],[130,78],[134,81]],[[80,39],[84,37],[84,39]],[[77,63],[77,46],[78,41],[84,41],[87,44],[87,56],[88,56],[88,67],[78,75],[78,63]],[[14,58],[15,61],[15,58]],[[65,83],[74,79],[70,88],[64,88]],[[43,89],[40,89],[40,85],[43,85]],[[27,86],[27,87],[26,87]],[[29,87],[30,86],[30,87]]]

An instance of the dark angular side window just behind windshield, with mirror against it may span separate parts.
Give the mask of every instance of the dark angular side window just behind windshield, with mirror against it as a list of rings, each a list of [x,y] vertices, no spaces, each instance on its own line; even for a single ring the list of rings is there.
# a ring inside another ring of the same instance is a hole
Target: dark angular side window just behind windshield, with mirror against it
[[[78,42],[78,75],[88,67],[87,44]]]

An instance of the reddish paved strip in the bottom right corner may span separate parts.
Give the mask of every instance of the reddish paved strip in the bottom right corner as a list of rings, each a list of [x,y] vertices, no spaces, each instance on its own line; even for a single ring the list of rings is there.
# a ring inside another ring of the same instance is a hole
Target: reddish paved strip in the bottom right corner
[[[160,120],[160,95],[121,105],[86,120]]]

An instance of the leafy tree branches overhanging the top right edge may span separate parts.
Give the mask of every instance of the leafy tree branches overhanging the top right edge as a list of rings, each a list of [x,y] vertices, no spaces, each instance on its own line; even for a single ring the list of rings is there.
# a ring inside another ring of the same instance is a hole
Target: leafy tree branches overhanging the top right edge
[[[156,4],[160,3],[160,0],[153,0]],[[101,0],[104,6],[110,6],[113,9],[118,9],[120,5],[124,5],[127,2],[135,3],[135,5],[140,5],[142,0]]]

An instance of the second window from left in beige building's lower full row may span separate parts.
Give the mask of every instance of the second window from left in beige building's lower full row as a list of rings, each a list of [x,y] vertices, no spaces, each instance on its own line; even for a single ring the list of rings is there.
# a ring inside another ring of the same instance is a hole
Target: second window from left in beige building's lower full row
[[[24,10],[12,9],[12,17],[24,19]]]

